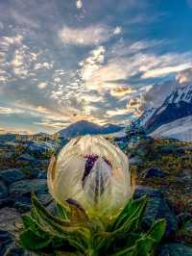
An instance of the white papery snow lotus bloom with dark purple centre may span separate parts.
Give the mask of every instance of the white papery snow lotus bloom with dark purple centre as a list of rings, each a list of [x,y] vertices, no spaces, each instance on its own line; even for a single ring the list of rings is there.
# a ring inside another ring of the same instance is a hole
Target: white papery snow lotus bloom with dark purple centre
[[[69,141],[47,175],[58,203],[80,203],[89,216],[112,217],[132,196],[127,156],[100,136]]]

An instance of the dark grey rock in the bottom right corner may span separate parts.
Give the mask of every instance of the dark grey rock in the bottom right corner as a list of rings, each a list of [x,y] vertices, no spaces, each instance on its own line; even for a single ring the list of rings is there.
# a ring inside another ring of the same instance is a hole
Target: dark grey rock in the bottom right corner
[[[192,247],[182,243],[166,243],[158,248],[158,256],[192,256]]]

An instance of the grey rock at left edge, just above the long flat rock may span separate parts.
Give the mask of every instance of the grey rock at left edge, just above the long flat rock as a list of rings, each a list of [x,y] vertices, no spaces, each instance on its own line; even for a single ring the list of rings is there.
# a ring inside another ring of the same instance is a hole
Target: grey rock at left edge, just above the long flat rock
[[[24,179],[25,175],[18,168],[4,169],[0,171],[0,179],[6,184],[11,184],[12,182]]]

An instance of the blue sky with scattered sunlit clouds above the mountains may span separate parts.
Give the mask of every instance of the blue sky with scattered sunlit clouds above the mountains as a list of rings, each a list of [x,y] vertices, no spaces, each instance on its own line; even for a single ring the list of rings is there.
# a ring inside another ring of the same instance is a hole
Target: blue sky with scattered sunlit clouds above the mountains
[[[127,124],[192,80],[192,0],[0,0],[0,133]]]

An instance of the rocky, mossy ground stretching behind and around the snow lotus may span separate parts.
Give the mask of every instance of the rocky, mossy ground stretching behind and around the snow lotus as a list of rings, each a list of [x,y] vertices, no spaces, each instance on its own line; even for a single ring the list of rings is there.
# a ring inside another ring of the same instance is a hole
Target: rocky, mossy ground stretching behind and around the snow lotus
[[[47,207],[46,170],[60,141],[0,141],[0,256],[32,255],[16,243],[20,217],[29,212],[33,190]],[[149,195],[143,227],[156,218],[167,221],[159,256],[192,255],[192,143],[145,139],[118,141],[135,174],[134,197]]]

